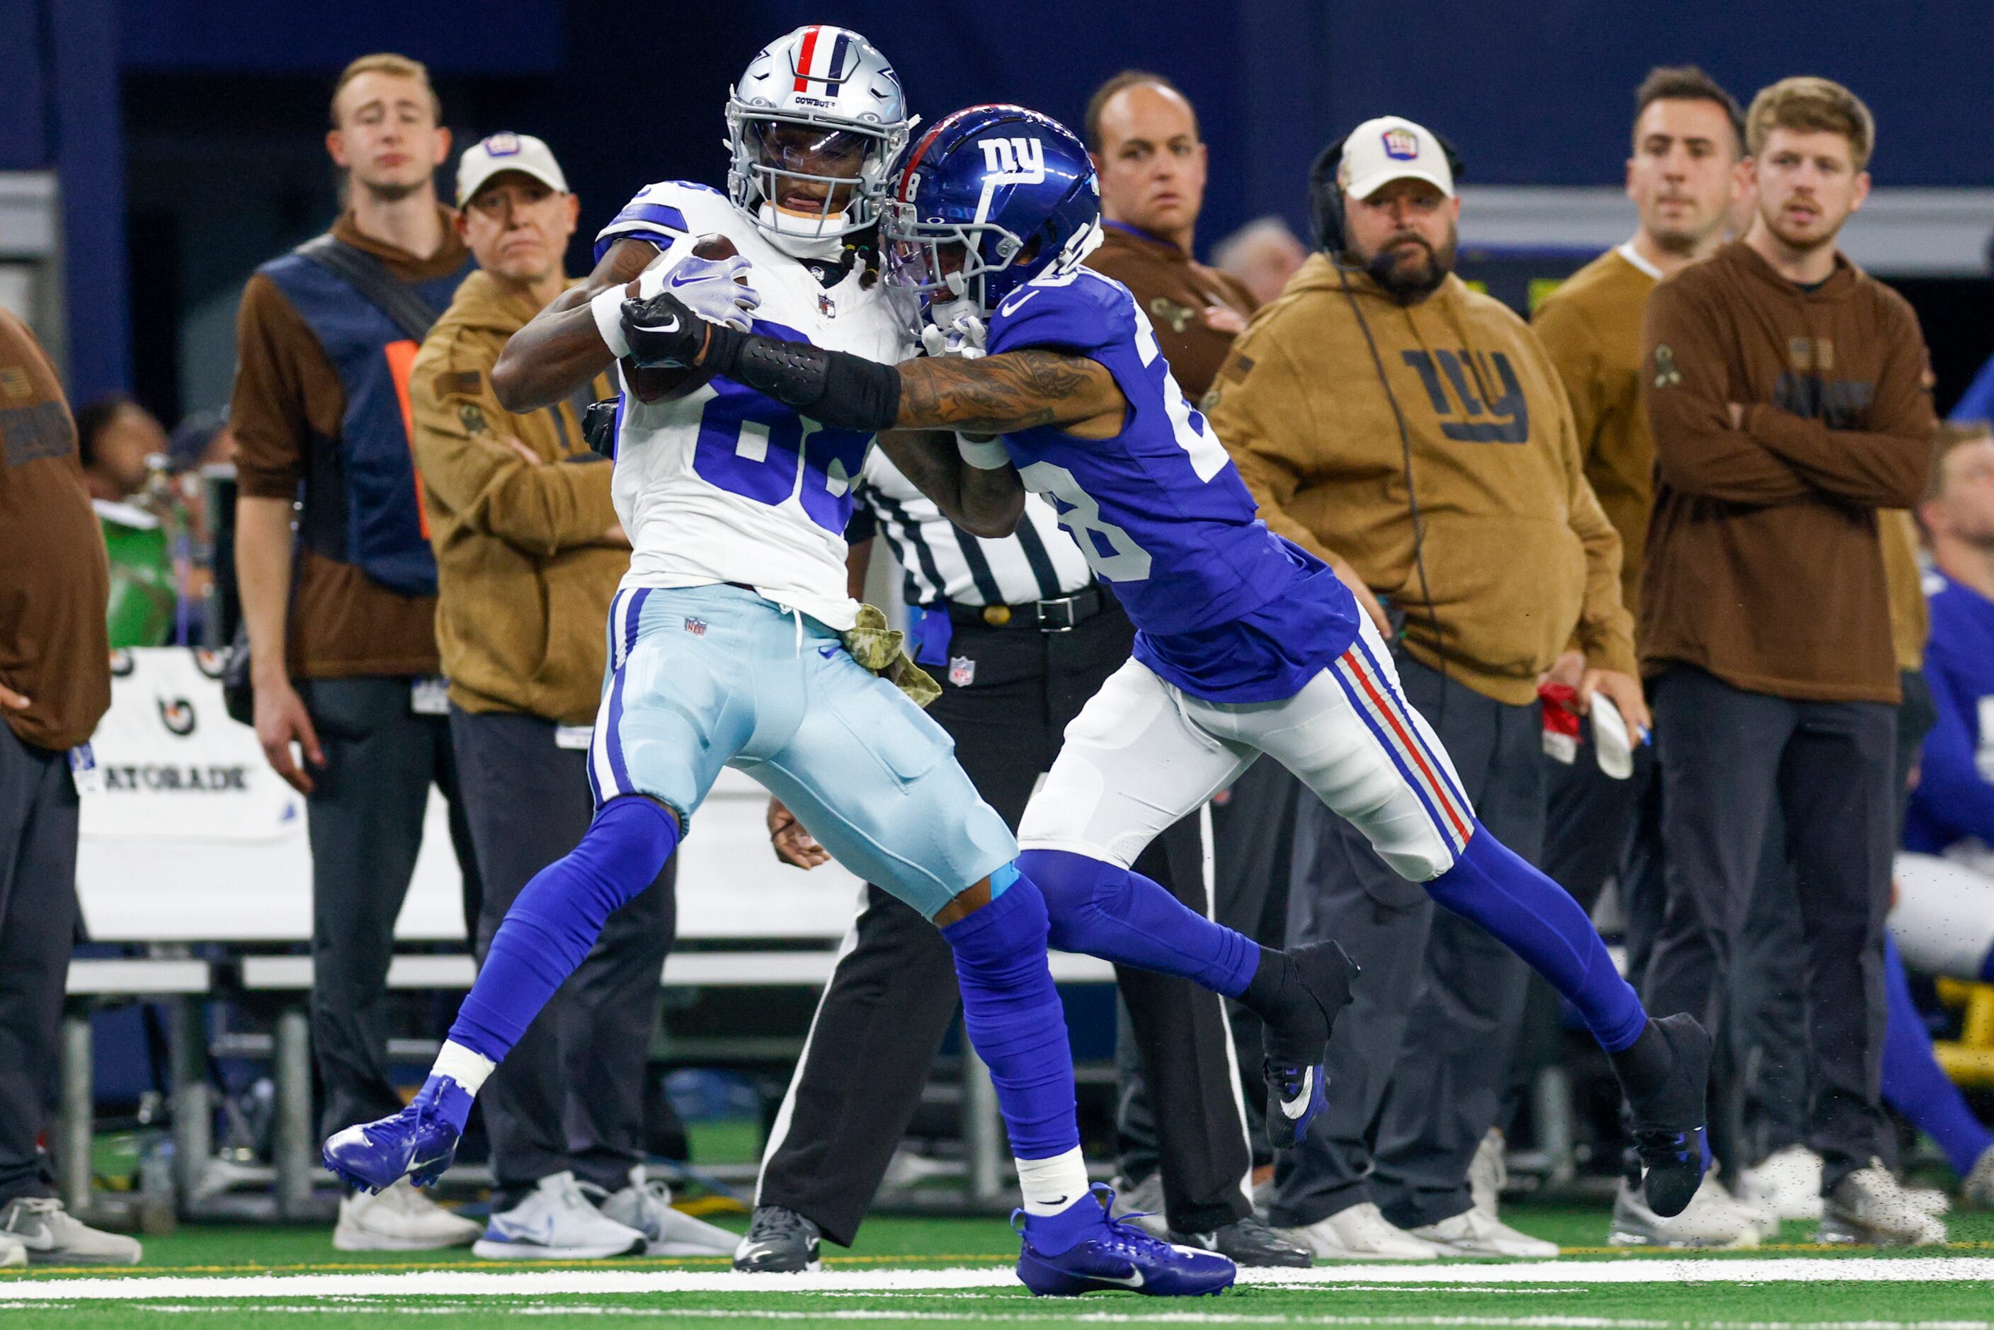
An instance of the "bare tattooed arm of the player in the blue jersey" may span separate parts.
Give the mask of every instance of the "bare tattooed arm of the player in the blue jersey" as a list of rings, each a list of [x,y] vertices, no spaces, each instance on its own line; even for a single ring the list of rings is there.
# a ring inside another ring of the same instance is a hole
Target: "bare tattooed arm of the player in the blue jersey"
[[[1127,399],[1101,361],[1045,347],[975,361],[923,359],[899,367],[897,429],[1009,435],[1061,425],[1083,439],[1121,433]]]

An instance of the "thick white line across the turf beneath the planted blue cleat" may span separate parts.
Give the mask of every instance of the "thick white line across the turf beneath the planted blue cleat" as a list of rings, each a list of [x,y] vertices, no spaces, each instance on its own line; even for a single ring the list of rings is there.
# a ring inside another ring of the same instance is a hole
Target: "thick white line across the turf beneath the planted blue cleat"
[[[1386,1266],[1344,1264],[1312,1270],[1240,1270],[1242,1284],[1747,1284],[1747,1282],[1888,1282],[1994,1280],[1994,1256],[1846,1256],[1753,1260],[1535,1260],[1515,1264]],[[327,1296],[514,1296],[550,1294],[672,1294],[672,1292],[796,1292],[867,1294],[953,1288],[1015,1288],[1005,1266],[955,1270],[826,1270],[822,1274],[736,1274],[732,1270],[413,1270],[407,1274],[126,1274],[52,1280],[0,1276],[0,1300],[134,1302],[154,1298],[327,1298]],[[760,1312],[758,1312],[760,1314]],[[1145,1316],[1141,1320],[1155,1320]],[[1232,1320],[1216,1316],[1216,1320]],[[1324,1322],[1336,1324],[1336,1322]],[[1350,1324],[1370,1324],[1352,1320]],[[1384,1322],[1380,1322],[1384,1324]],[[1392,1322],[1400,1324],[1400,1322]],[[1474,1322],[1462,1322],[1474,1324]],[[1492,1324],[1567,1324],[1492,1322]],[[1591,1326],[1595,1322],[1569,1322]],[[1599,1322],[1605,1324],[1605,1322]],[[1613,1322],[1619,1324],[1619,1322]],[[1631,1322],[1629,1322],[1631,1324]],[[1661,1322],[1657,1322],[1661,1324]],[[1976,1326],[1980,1322],[1974,1322]]]

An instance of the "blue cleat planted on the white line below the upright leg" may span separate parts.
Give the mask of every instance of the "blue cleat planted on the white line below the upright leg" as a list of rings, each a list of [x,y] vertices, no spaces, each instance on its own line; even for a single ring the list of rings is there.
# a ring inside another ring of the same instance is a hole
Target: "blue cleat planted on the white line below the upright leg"
[[[1153,1298],[1196,1298],[1232,1286],[1238,1266],[1218,1252],[1159,1242],[1129,1216],[1111,1218],[1115,1192],[1097,1182],[1059,1214],[1011,1212],[1023,1234],[1017,1276],[1041,1298],[1083,1292],[1141,1292]]]

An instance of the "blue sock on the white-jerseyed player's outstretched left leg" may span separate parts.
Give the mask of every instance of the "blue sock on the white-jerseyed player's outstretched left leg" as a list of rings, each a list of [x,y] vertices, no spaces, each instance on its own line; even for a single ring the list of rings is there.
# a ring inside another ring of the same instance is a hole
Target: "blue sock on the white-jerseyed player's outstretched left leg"
[[[604,804],[582,841],[534,873],[504,913],[451,1041],[504,1061],[610,913],[656,881],[676,847],[678,822],[660,804],[640,796]]]

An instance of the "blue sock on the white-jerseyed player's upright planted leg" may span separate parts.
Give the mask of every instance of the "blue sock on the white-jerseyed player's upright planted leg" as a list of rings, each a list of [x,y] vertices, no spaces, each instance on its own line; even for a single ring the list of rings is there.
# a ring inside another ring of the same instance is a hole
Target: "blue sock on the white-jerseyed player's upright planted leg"
[[[1045,967],[1045,897],[1031,877],[941,929],[955,951],[963,1029],[991,1069],[997,1109],[1017,1159],[1081,1149],[1067,1011]]]

